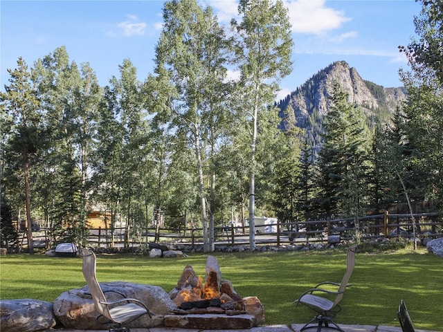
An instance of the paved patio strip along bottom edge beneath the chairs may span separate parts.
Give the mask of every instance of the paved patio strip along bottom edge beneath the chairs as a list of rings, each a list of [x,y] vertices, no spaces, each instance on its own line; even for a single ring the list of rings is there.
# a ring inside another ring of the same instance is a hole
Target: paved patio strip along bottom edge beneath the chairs
[[[270,326],[259,326],[253,327],[246,330],[199,330],[199,329],[179,329],[172,327],[153,327],[151,329],[131,329],[131,332],[300,332],[303,324],[292,324],[291,326],[286,325],[270,325]],[[346,332],[401,332],[401,328],[398,326],[373,326],[373,325],[340,325]],[[43,332],[105,332],[107,330],[73,330],[73,329],[62,329],[62,330],[45,330]],[[316,329],[310,329],[310,331],[316,331]],[[336,331],[334,329],[322,329],[323,332]],[[415,329],[415,332],[433,332]]]

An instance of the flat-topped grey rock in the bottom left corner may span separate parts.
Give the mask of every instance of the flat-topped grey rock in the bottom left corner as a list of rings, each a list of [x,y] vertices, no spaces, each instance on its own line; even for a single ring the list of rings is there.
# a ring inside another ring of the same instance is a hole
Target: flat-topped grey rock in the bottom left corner
[[[53,304],[38,299],[2,299],[1,331],[32,332],[51,329],[57,324]]]

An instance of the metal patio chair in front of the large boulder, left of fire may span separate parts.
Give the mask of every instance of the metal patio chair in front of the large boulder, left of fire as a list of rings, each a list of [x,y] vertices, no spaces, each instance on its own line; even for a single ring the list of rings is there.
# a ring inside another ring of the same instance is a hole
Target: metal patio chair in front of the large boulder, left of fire
[[[89,292],[92,295],[94,306],[100,315],[98,322],[105,317],[108,329],[111,332],[127,332],[129,328],[125,326],[129,322],[136,320],[141,315],[148,314],[150,311],[143,302],[138,299],[127,298],[118,291],[112,291],[122,295],[122,299],[116,301],[107,301],[105,294],[100,288],[96,278],[96,255],[91,249],[80,248],[80,255],[83,257],[83,275],[88,284]]]

